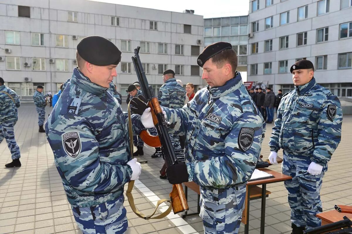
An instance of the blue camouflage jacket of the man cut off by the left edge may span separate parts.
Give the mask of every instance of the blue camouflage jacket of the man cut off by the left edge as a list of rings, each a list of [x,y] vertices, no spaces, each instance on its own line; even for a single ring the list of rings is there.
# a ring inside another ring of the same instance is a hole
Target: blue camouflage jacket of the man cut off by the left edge
[[[8,93],[14,100],[6,94]],[[18,119],[17,108],[20,107],[20,100],[12,89],[6,85],[0,85],[0,124],[16,122]]]

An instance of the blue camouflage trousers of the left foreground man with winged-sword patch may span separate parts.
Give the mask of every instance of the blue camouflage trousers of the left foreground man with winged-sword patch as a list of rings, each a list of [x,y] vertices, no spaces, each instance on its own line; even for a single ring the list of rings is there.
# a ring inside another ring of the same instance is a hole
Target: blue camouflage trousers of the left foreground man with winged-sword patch
[[[92,207],[72,207],[83,234],[120,234],[127,232],[124,196]]]

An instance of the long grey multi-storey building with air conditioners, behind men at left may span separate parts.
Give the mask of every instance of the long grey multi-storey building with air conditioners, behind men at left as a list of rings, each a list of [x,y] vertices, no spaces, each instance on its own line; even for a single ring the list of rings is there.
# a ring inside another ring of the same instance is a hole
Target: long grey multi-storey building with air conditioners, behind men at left
[[[201,15],[87,0],[1,1],[0,76],[22,99],[31,99],[39,84],[55,93],[77,66],[77,44],[89,35],[106,37],[122,51],[114,78],[122,95],[137,81],[131,60],[137,46],[155,92],[166,69],[184,84],[203,86],[196,62]]]

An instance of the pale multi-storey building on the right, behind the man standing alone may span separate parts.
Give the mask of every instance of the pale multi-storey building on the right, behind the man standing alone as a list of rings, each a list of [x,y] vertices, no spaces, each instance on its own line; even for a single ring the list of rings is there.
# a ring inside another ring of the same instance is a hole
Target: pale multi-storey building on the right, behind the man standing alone
[[[250,0],[248,81],[274,91],[294,88],[290,67],[308,59],[314,77],[335,95],[352,97],[351,0]]]

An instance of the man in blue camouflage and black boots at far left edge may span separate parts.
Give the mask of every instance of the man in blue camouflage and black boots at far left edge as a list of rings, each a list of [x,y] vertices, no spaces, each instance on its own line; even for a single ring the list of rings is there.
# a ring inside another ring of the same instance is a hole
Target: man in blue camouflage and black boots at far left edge
[[[18,119],[17,108],[20,107],[20,100],[15,91],[4,83],[4,79],[0,77],[0,143],[5,138],[11,152],[12,162],[7,163],[5,167],[20,167],[20,148],[15,141],[13,130]]]

